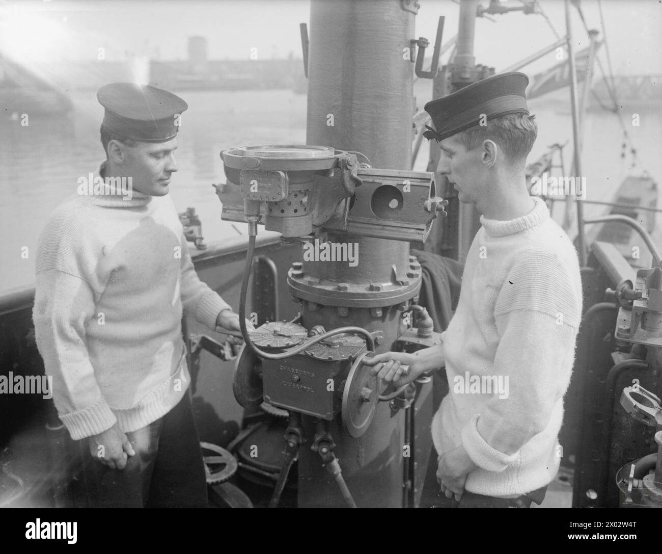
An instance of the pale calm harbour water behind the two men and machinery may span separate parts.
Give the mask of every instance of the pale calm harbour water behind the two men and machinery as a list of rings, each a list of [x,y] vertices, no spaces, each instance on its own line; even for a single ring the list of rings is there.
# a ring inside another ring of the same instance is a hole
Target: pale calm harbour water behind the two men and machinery
[[[432,83],[416,83],[417,105],[430,99]],[[219,152],[245,144],[303,144],[306,141],[306,95],[291,90],[181,91],[189,104],[183,114],[177,149],[179,171],[170,190],[178,211],[195,207],[205,241],[245,237],[245,225],[220,220],[220,202],[213,183],[224,182]],[[77,180],[95,170],[103,159],[99,124],[103,109],[93,91],[71,93],[74,109],[68,115],[0,116],[0,291],[34,283],[34,256],[39,234],[52,210],[71,194]],[[567,89],[530,102],[536,114],[538,140],[529,161],[547,146],[570,141],[565,148],[565,175],[571,176],[572,126]],[[632,125],[633,115],[639,125]],[[378,113],[375,114],[378,117]],[[618,119],[604,110],[585,116],[583,173],[587,199],[609,201],[626,176],[646,169],[662,180],[662,113],[637,105],[623,107],[628,133],[638,148],[639,163],[632,166],[626,151],[621,157],[623,133]],[[424,144],[414,169],[425,170]],[[604,206],[589,205],[585,215],[598,215]],[[553,217],[563,219],[557,203]],[[263,231],[260,231],[263,233]],[[26,248],[25,248],[26,247]]]

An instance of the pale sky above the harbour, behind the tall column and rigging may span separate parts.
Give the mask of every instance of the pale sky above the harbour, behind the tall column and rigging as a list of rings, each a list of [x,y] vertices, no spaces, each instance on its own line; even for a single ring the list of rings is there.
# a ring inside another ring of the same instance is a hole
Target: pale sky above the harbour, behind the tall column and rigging
[[[338,1],[338,0],[323,0]],[[342,0],[341,0],[342,1]],[[363,1],[363,0],[355,0]],[[419,0],[414,37],[434,40],[436,22],[446,16],[445,38],[457,29],[459,5],[451,0]],[[484,6],[488,5],[483,0]],[[520,5],[508,0],[505,5]],[[559,34],[565,34],[563,0],[541,5]],[[602,31],[597,0],[582,0],[589,27]],[[602,0],[604,24],[617,74],[662,74],[662,3],[659,0]],[[185,59],[187,37],[206,36],[212,59],[258,56],[301,58],[299,23],[310,15],[308,0],[0,0],[0,52],[29,64],[94,60],[99,48],[107,60],[130,55],[160,60]],[[554,42],[540,15],[514,13],[478,19],[477,63],[503,69]],[[573,31],[588,44],[577,12]],[[604,60],[604,49],[600,56]],[[548,57],[529,70],[554,63]]]

